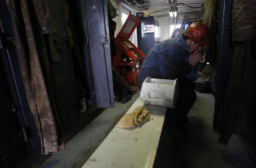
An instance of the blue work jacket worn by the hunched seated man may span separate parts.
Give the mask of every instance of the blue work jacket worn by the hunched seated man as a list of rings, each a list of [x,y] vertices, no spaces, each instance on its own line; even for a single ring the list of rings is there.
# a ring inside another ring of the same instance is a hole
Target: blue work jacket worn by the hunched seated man
[[[187,50],[181,33],[154,46],[140,69],[139,85],[142,86],[147,77],[169,80],[184,78],[192,69],[189,63],[184,63]]]

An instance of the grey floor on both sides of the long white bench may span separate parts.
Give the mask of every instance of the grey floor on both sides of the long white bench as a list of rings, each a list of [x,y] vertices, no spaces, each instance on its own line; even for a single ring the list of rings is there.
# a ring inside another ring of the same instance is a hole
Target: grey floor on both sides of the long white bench
[[[41,168],[81,168],[139,94],[126,104],[105,109]],[[163,129],[155,168],[255,168],[237,136],[233,135],[227,146],[217,143],[218,134],[212,131],[214,101],[212,94],[197,93],[188,115],[189,140],[175,139]]]

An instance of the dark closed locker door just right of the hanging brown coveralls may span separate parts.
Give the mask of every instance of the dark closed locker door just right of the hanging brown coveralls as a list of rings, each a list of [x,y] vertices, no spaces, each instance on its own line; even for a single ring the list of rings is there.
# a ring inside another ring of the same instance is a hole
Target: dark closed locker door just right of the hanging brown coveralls
[[[59,62],[54,62],[50,65],[54,96],[63,129],[66,131],[78,118],[78,100],[71,50],[68,46],[69,35],[65,0],[47,0],[47,3],[54,20],[54,25],[57,28],[57,31],[52,32],[51,35],[60,56]]]

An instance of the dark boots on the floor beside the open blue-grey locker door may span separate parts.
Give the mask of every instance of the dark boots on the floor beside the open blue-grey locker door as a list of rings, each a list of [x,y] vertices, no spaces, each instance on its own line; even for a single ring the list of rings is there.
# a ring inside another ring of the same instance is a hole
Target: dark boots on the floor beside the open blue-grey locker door
[[[114,88],[114,102],[127,103],[131,100],[131,94],[128,94],[128,87],[127,86],[116,86]]]

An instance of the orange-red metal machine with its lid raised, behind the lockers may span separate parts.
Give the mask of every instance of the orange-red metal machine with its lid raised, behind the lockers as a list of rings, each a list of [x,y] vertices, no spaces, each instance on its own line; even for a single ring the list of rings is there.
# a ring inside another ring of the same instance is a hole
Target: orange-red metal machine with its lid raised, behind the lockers
[[[117,55],[114,56],[114,69],[125,79],[129,84],[138,86],[139,71],[145,59],[143,54],[129,40],[133,31],[140,22],[140,18],[128,15],[121,31],[117,34],[116,45]]]

